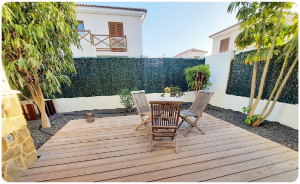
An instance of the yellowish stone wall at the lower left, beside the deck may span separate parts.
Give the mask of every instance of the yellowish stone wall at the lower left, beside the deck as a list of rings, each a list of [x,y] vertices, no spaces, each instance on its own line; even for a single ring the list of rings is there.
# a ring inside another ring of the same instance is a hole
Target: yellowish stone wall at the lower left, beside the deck
[[[17,96],[2,96],[2,178],[5,181],[15,181],[37,159],[26,126]],[[8,134],[12,136],[10,142],[5,139]]]

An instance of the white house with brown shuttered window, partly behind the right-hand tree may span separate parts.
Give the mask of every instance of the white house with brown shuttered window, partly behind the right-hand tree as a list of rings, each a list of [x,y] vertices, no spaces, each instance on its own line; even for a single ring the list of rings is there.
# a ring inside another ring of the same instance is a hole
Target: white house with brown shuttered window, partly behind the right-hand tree
[[[285,22],[287,25],[292,24],[293,16],[294,15],[285,16]],[[226,52],[226,51],[237,51],[237,47],[235,47],[234,40],[240,32],[241,30],[239,30],[239,23],[237,23],[217,33],[210,35],[208,38],[212,39],[211,55],[221,53],[221,52]],[[251,46],[243,51],[248,51],[252,49],[256,49],[256,48],[254,48],[254,46]]]

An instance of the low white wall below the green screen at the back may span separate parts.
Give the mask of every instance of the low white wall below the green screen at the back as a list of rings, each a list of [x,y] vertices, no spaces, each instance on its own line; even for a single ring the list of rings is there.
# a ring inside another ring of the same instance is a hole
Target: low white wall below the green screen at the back
[[[158,97],[162,93],[146,94],[147,100]],[[180,97],[183,102],[192,102],[195,99],[193,92],[184,92]],[[120,97],[115,96],[93,96],[81,98],[58,98],[55,100],[55,106],[58,113],[71,112],[77,110],[93,110],[93,109],[115,109],[124,108],[120,102]]]

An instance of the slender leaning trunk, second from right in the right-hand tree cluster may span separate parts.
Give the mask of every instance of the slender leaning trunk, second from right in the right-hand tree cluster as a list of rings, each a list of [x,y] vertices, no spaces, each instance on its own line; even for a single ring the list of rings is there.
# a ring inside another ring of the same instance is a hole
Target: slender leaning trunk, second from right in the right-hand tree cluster
[[[298,35],[298,33],[297,33],[297,35]],[[263,110],[261,111],[260,116],[263,116],[263,114],[265,113],[265,111],[266,111],[269,103],[271,102],[271,100],[272,100],[272,98],[273,98],[273,96],[274,96],[274,94],[275,94],[275,92],[276,92],[276,90],[277,90],[277,88],[279,86],[280,80],[281,80],[281,78],[283,76],[284,69],[285,69],[285,67],[287,65],[287,59],[288,59],[288,56],[289,56],[289,54],[291,52],[291,48],[292,48],[293,43],[294,43],[294,41],[292,41],[290,43],[290,46],[289,46],[289,48],[288,48],[288,50],[286,52],[286,55],[285,55],[285,58],[284,58],[284,61],[283,61],[283,64],[282,64],[282,68],[281,68],[280,74],[279,74],[279,76],[277,78],[276,84],[275,84],[275,86],[274,86],[274,88],[273,88],[273,90],[272,90],[272,92],[271,92],[271,94],[270,94],[270,96],[269,96],[269,98],[268,98],[268,100],[267,100],[267,102],[266,102]],[[257,119],[256,121],[260,121],[260,119]]]

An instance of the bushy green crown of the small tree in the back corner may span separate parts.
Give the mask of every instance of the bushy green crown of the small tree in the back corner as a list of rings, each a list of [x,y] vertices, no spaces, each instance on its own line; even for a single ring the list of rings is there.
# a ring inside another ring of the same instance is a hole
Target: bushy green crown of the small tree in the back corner
[[[212,84],[209,81],[211,72],[209,65],[198,65],[184,69],[185,80],[187,82],[188,90],[197,93],[198,90],[208,89]]]

